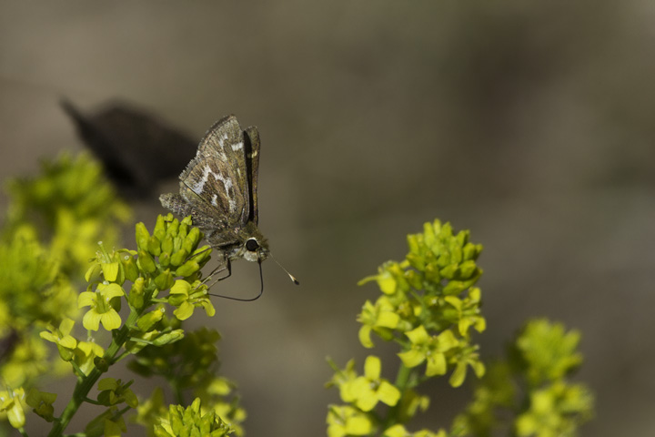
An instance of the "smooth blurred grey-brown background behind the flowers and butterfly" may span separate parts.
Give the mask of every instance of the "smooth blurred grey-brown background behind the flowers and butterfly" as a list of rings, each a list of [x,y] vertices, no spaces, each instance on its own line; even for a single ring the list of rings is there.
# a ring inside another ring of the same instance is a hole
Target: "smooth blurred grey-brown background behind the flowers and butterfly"
[[[262,299],[193,321],[223,334],[248,435],[325,435],[325,357],[368,352],[355,317],[378,291],[356,282],[435,218],[485,246],[483,357],[530,317],[561,320],[597,395],[582,435],[653,435],[654,24],[644,0],[2,0],[0,175],[84,148],[61,97],[121,99],[196,139],[230,113],[257,125],[260,229],[301,286],[268,261]],[[258,280],[237,262],[220,290]],[[429,394],[433,428],[469,396]]]

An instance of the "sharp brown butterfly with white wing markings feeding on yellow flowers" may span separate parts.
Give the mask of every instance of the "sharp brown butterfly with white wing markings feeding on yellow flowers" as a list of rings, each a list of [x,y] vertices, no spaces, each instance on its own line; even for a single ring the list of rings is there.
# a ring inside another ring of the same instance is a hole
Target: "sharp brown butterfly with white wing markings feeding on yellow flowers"
[[[209,128],[196,157],[180,175],[179,194],[159,197],[163,207],[183,217],[190,215],[205,233],[220,257],[219,266],[227,269],[222,279],[231,275],[232,260],[257,261],[261,269],[270,255],[257,228],[259,147],[257,127],[242,130],[237,117],[221,118]]]

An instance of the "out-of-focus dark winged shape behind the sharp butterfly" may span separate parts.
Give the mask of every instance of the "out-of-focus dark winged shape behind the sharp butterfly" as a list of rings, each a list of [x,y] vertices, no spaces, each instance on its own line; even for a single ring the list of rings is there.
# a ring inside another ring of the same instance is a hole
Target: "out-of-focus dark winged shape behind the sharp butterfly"
[[[196,154],[196,139],[124,102],[89,115],[66,99],[60,103],[73,119],[77,135],[126,198],[158,196],[157,185],[177,178]]]

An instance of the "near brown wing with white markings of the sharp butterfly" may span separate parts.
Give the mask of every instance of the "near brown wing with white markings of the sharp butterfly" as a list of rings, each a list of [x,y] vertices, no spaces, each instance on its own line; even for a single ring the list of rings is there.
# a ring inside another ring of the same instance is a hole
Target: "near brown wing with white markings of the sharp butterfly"
[[[218,120],[180,175],[180,195],[196,209],[194,220],[201,229],[211,224],[234,229],[247,223],[251,203],[245,139],[236,117]]]

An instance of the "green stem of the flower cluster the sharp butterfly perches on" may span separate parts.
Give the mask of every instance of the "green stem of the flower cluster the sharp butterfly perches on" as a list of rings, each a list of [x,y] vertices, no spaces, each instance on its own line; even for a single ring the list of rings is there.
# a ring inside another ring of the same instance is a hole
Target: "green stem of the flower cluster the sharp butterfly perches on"
[[[112,340],[111,344],[105,352],[105,358],[107,364],[111,366],[116,362],[116,354],[125,344],[126,340],[129,338],[129,326],[133,326],[138,319],[137,311],[130,311],[130,315],[127,317],[126,323],[118,330],[118,333]],[[62,412],[61,417],[56,420],[53,424],[52,430],[48,434],[48,437],[60,437],[64,432],[65,428],[68,426],[68,423],[73,419],[73,416],[76,414],[80,405],[88,397],[89,391],[96,385],[96,382],[100,379],[103,372],[99,371],[97,368],[94,368],[85,378],[81,381],[77,381],[76,388],[73,391],[73,397],[68,401],[64,412]]]

